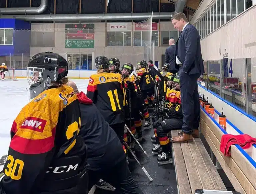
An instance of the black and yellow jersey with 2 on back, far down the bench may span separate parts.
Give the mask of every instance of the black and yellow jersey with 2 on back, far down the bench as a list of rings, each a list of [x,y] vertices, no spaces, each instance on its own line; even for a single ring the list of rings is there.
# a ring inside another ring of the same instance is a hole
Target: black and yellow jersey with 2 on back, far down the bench
[[[152,77],[149,74],[149,71],[146,70],[144,67],[138,70],[137,77],[139,79],[140,90],[148,90],[154,87]]]

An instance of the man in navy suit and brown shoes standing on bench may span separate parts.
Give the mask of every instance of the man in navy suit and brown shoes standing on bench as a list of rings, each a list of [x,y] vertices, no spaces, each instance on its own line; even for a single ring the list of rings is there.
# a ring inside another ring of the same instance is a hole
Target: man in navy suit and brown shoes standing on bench
[[[174,28],[181,31],[176,43],[176,64],[179,66],[183,126],[182,132],[178,137],[172,137],[171,141],[173,143],[193,142],[193,137],[200,137],[197,79],[204,73],[200,36],[183,13],[175,14],[172,24]]]

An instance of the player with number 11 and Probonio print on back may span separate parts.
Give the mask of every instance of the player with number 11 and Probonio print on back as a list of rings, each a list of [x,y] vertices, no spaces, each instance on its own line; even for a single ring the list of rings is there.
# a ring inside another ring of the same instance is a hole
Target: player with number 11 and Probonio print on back
[[[87,96],[92,99],[104,119],[116,132],[119,140],[123,144],[125,125],[124,106],[126,106],[123,77],[119,73],[109,72],[109,61],[105,56],[96,57],[95,66],[98,69],[97,74],[93,74],[89,78]]]

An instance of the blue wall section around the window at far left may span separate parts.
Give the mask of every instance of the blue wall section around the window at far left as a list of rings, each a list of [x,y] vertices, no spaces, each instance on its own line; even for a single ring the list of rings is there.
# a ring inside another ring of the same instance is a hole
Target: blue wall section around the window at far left
[[[14,30],[13,45],[0,45],[0,56],[30,55],[31,25],[17,19],[0,19],[0,28],[28,29]]]

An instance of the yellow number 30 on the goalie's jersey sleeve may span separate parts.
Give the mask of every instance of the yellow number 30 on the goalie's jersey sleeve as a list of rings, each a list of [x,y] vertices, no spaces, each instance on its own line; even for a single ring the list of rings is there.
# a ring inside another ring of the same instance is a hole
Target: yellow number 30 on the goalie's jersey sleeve
[[[7,169],[4,169],[4,173],[6,174],[6,176],[10,176],[11,179],[13,180],[20,180],[22,175],[22,170],[24,167],[24,162],[20,159],[14,160],[12,155],[8,155],[6,162],[10,162],[6,166]],[[17,166],[18,166],[18,172],[17,172],[17,175],[15,175],[14,173],[16,171]]]

